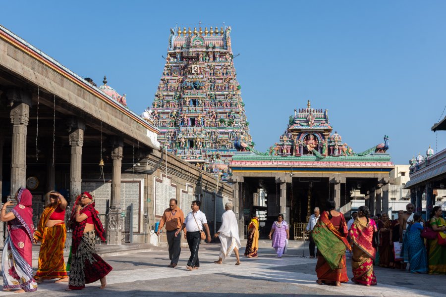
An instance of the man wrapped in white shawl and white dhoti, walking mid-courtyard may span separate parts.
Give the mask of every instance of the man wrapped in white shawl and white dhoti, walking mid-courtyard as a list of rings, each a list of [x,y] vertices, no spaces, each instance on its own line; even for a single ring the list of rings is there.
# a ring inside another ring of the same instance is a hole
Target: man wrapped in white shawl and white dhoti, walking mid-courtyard
[[[214,261],[216,264],[222,264],[224,258],[231,255],[232,250],[234,250],[237,262],[235,265],[240,265],[240,257],[238,254],[238,249],[241,247],[240,239],[238,238],[238,223],[235,213],[232,211],[232,203],[227,202],[224,205],[226,210],[222,215],[222,226],[219,231],[214,235],[214,237],[220,238],[220,255],[218,261]]]

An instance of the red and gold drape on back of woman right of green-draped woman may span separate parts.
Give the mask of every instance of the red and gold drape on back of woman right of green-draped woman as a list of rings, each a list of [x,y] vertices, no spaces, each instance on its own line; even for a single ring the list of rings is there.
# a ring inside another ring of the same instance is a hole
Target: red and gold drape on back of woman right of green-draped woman
[[[369,257],[375,259],[376,248],[373,247],[373,233],[377,231],[377,227],[375,221],[373,219],[369,219],[369,223],[367,226],[363,225],[363,223],[359,220],[359,217],[356,218],[353,225],[351,225],[349,236],[352,242],[362,249]]]

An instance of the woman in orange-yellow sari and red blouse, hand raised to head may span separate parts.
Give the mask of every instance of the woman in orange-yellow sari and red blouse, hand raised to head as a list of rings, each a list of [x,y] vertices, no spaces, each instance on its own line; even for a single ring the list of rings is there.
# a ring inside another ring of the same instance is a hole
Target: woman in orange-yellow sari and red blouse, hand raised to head
[[[41,242],[39,252],[39,266],[34,279],[41,283],[43,280],[55,279],[67,282],[63,248],[65,247],[66,227],[65,208],[67,202],[58,192],[50,192],[50,203],[45,207],[40,217],[37,230],[34,232],[34,243]]]

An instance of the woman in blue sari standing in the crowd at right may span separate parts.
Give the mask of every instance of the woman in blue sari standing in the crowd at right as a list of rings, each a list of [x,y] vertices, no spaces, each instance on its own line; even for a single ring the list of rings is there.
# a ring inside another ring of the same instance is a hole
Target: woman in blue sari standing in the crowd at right
[[[421,214],[414,213],[413,223],[409,225],[404,241],[404,249],[408,251],[410,272],[426,273],[428,271],[428,261],[424,240],[421,237],[423,225],[421,225]]]

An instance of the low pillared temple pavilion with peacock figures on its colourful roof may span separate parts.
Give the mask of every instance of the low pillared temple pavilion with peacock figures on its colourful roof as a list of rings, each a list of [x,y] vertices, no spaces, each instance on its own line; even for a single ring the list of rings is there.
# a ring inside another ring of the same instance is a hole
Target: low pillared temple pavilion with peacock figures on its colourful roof
[[[328,110],[312,108],[308,101],[305,108],[294,110],[268,152],[247,147],[232,156],[229,180],[234,183],[240,235],[251,211],[266,226],[283,213],[292,231],[293,225],[308,221],[314,207],[323,210],[327,198],[348,217],[353,193],[359,191],[372,214],[388,212],[389,172],[394,168],[386,152],[389,137],[357,153],[332,132]]]

